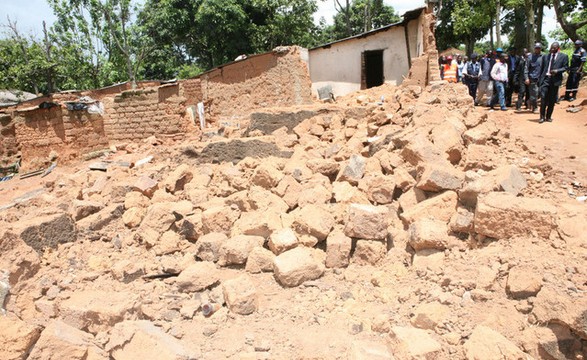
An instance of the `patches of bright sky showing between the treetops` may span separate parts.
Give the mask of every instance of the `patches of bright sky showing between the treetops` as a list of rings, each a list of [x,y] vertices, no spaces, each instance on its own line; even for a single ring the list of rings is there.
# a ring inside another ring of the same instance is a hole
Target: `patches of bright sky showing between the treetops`
[[[393,6],[400,15],[403,15],[407,10],[424,6],[424,0],[384,0],[384,3]],[[332,23],[332,17],[335,13],[334,0],[318,0],[318,12],[314,14],[314,20],[318,23],[320,18],[324,17],[328,23]],[[17,21],[18,28],[22,33],[32,34],[35,37],[41,37],[43,34],[43,20],[47,22],[47,25],[51,25],[55,21],[55,16],[47,4],[47,0],[2,0],[0,25],[8,23],[7,16],[10,16],[12,21]],[[554,12],[547,9],[543,24],[544,34],[548,36],[548,33],[556,27],[557,21]],[[5,29],[0,29],[0,31],[3,30]]]

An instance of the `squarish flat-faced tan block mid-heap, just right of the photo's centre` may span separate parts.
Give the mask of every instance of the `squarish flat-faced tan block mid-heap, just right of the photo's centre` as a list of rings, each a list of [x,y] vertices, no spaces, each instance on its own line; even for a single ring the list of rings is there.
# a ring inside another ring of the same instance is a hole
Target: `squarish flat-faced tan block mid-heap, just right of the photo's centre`
[[[352,238],[385,240],[389,215],[385,206],[351,204],[347,209],[344,233]]]

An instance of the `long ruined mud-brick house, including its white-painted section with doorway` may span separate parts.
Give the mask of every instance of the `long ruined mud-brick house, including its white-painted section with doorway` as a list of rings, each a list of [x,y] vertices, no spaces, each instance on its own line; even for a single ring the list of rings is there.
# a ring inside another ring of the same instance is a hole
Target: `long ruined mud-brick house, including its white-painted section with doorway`
[[[246,126],[253,111],[311,104],[324,87],[331,97],[405,78],[425,85],[435,73],[435,61],[428,61],[436,58],[428,56],[435,51],[433,26],[433,16],[419,8],[397,24],[311,50],[278,47],[192,79],[61,92],[0,107],[0,166],[23,159],[32,170],[47,166],[52,152],[67,162],[150,136],[179,140]]]

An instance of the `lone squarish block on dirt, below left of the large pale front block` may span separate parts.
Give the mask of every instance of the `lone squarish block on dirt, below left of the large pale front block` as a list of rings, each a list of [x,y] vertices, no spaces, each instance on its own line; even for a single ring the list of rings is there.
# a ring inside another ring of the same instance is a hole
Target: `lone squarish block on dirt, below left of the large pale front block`
[[[249,275],[224,281],[222,292],[228,309],[236,314],[249,315],[259,307],[257,290]]]

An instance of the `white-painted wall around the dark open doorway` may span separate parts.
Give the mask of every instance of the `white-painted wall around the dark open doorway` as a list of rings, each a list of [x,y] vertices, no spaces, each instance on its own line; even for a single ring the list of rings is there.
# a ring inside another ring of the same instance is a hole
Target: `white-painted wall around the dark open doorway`
[[[408,23],[408,38],[412,58],[423,52],[421,20]],[[345,95],[361,89],[361,54],[369,50],[383,50],[383,73],[385,82],[392,85],[402,83],[410,70],[405,28],[393,26],[385,31],[364,38],[353,38],[310,50],[310,78],[312,92],[330,85],[334,96]]]

